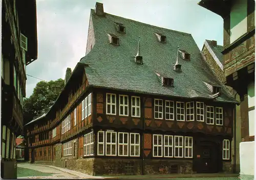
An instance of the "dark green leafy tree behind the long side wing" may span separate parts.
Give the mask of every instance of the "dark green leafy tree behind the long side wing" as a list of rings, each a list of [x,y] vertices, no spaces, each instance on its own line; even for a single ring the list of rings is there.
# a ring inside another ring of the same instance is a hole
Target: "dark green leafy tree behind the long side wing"
[[[24,123],[28,123],[34,116],[47,111],[59,95],[59,92],[56,92],[54,87],[63,88],[64,86],[65,83],[62,79],[49,82],[40,81],[37,83],[32,95],[24,99]]]

